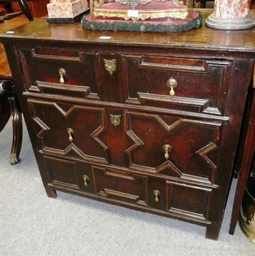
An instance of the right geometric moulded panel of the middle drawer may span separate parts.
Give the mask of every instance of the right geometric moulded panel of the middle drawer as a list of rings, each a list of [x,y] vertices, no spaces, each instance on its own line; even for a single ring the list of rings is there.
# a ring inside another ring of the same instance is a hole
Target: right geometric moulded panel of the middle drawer
[[[131,111],[125,111],[125,120],[133,141],[126,150],[128,167],[214,182],[222,123]]]

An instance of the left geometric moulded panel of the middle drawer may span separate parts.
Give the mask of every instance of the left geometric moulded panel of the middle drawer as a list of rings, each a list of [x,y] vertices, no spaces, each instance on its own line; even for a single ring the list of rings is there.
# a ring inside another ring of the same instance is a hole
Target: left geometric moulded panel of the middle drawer
[[[32,99],[27,102],[43,152],[107,162],[108,148],[102,141],[104,108]]]

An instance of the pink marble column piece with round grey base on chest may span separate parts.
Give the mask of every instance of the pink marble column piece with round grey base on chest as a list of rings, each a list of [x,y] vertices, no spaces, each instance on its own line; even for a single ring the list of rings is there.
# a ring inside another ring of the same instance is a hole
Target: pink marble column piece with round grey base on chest
[[[255,25],[249,17],[251,0],[215,0],[214,11],[206,19],[206,25],[215,29],[238,30]]]

